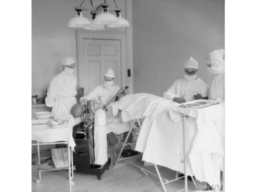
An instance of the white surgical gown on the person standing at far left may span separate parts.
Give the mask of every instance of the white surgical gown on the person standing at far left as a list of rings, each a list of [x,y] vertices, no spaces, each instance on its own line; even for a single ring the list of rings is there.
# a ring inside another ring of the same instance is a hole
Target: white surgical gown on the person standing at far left
[[[76,76],[68,76],[64,72],[51,79],[45,97],[45,104],[52,108],[51,116],[71,115],[71,108],[76,104]]]

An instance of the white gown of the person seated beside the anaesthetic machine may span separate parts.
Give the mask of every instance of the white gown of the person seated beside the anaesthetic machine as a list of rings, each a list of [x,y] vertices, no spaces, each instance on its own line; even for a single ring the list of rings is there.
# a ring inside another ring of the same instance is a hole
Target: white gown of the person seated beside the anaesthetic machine
[[[85,97],[81,97],[81,99],[86,98],[87,100],[98,100],[99,96],[101,96],[101,100],[104,101],[105,104],[111,100],[115,94],[120,90],[120,87],[118,85],[113,84],[110,88],[105,88],[103,84],[100,84],[100,86],[97,86],[93,89],[92,92],[90,92]],[[113,106],[113,102],[109,104],[110,106]],[[129,122],[123,122],[121,112],[118,112],[117,115],[113,115],[111,113],[110,108],[108,108],[108,112],[106,113],[106,131],[107,134],[109,132],[115,132],[115,133],[122,133],[127,132],[130,129]]]

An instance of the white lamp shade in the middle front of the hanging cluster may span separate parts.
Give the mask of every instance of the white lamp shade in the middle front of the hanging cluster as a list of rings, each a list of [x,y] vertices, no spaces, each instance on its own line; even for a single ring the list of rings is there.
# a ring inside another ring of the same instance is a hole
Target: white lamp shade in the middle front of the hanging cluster
[[[112,15],[108,12],[108,9],[104,8],[102,10],[102,13],[100,15],[97,15],[94,19],[94,24],[98,25],[109,25],[109,24],[115,24],[117,22],[117,19],[115,15]]]

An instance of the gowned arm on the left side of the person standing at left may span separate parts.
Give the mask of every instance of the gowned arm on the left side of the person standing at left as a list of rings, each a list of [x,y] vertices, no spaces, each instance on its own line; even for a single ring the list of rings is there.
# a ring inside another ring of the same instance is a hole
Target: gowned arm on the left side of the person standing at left
[[[54,102],[56,96],[58,95],[58,91],[61,86],[61,79],[54,77],[51,79],[49,84],[49,88],[47,90],[47,97],[45,97],[45,104],[47,107],[52,108],[54,106]]]

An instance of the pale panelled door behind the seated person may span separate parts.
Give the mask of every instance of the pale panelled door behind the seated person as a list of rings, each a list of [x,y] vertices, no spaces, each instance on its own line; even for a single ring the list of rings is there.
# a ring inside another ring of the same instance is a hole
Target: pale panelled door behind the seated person
[[[114,83],[122,86],[120,40],[83,39],[83,54],[79,59],[78,84],[84,95],[104,81],[104,74],[111,68]]]

